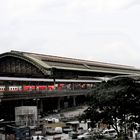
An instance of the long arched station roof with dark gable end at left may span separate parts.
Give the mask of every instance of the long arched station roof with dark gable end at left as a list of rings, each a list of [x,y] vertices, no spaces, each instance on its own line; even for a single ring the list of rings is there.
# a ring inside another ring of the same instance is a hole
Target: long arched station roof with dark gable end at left
[[[29,52],[11,51],[0,55],[0,76],[43,78],[86,78],[140,74],[132,66],[102,63]]]

